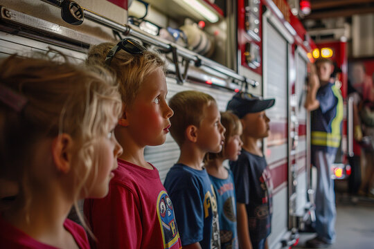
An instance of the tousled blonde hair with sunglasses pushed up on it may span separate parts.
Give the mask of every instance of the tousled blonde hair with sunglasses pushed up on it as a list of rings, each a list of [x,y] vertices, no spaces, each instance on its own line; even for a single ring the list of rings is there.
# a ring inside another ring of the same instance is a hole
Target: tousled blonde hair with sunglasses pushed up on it
[[[158,68],[165,72],[166,64],[159,53],[152,50],[145,50],[139,55],[132,55],[125,50],[119,50],[110,65],[107,66],[105,57],[114,46],[115,44],[108,42],[93,46],[87,55],[86,64],[100,64],[114,72],[119,82],[122,101],[126,106],[131,107],[145,77]]]

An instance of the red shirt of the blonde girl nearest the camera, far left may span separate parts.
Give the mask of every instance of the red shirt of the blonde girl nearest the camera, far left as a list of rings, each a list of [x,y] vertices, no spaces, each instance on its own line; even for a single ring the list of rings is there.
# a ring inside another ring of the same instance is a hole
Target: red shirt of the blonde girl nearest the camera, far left
[[[71,233],[75,243],[81,249],[89,248],[89,241],[84,229],[77,223],[66,219],[64,228]],[[39,242],[28,234],[22,232],[18,228],[5,221],[0,215],[0,248],[38,248],[38,249],[55,249],[54,246],[49,246],[45,243]]]

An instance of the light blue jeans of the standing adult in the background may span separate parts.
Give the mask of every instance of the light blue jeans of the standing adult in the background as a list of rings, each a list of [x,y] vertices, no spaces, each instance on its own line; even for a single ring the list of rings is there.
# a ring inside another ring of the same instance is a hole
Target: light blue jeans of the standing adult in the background
[[[325,151],[314,151],[314,164],[317,167],[316,191],[316,230],[319,238],[326,243],[335,242],[335,209],[334,180],[331,179],[331,165],[335,154]]]

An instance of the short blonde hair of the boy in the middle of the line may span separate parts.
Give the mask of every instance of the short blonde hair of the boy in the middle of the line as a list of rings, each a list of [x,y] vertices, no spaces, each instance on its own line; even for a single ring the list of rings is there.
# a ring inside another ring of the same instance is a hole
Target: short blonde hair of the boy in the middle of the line
[[[174,111],[174,116],[170,118],[170,134],[179,147],[183,144],[184,133],[189,125],[199,127],[204,118],[204,108],[215,99],[200,91],[181,91],[169,100],[169,107]]]

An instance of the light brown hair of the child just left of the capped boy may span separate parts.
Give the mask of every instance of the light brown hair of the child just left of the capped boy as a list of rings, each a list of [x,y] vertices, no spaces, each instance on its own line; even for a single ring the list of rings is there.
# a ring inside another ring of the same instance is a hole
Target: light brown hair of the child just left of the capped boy
[[[238,116],[231,111],[221,112],[221,123],[226,129],[224,132],[224,146],[222,147],[222,151],[219,153],[205,154],[204,163],[208,163],[209,160],[214,160],[215,158],[222,158],[224,156],[227,142],[229,142],[229,138],[242,133],[242,123],[240,122]]]

